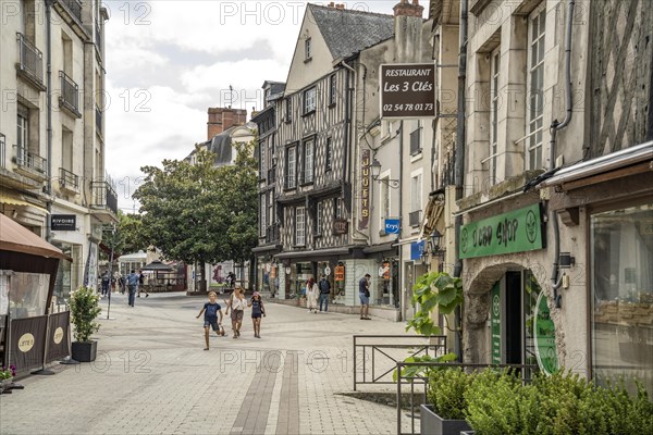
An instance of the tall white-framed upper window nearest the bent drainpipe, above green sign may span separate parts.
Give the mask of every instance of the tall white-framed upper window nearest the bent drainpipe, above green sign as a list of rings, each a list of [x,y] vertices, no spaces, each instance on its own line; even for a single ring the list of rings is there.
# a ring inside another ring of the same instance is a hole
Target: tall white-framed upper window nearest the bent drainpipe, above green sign
[[[527,108],[527,161],[529,170],[542,167],[542,142],[544,126],[544,36],[546,28],[546,2],[538,8],[528,21],[528,108]]]

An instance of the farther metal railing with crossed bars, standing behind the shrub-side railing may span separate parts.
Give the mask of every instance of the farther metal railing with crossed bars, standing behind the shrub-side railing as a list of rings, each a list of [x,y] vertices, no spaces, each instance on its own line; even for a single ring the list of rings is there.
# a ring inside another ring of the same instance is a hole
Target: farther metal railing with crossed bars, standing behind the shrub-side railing
[[[445,352],[444,335],[355,335],[354,390],[362,384],[395,384],[392,374],[396,364],[408,357],[440,357]]]

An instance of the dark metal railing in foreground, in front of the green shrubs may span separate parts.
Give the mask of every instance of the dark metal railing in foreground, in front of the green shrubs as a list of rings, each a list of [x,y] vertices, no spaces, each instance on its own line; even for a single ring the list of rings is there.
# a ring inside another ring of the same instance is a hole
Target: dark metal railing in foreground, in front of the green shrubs
[[[539,372],[539,366],[533,364],[478,364],[478,363],[464,363],[464,362],[404,362],[399,361],[396,364],[395,370],[397,371],[397,435],[416,435],[419,434],[419,430],[416,432],[415,423],[419,420],[419,414],[416,415],[416,410],[419,410],[420,405],[427,403],[427,397],[429,394],[429,378],[424,375],[418,376],[406,376],[403,374],[403,370],[409,366],[421,366],[427,370],[442,370],[442,369],[454,369],[460,368],[465,371],[473,372],[479,370],[492,369],[513,369],[521,380],[522,383],[530,383],[533,374]],[[405,407],[403,402],[402,385],[409,384],[410,393],[408,394],[408,403]],[[416,384],[418,390],[416,393]],[[416,395],[419,395],[419,400],[416,400]],[[410,432],[402,431],[402,413],[408,408],[410,413]]]

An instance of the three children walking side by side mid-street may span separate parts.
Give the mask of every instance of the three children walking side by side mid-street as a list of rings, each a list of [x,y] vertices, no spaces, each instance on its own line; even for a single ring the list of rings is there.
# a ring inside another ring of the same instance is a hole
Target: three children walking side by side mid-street
[[[230,295],[229,300],[224,300],[224,304],[226,307],[225,315],[230,315],[231,311],[232,333],[234,339],[241,336],[243,318],[247,308],[251,308],[254,336],[256,338],[261,338],[261,318],[266,316],[266,308],[263,306],[260,293],[255,291],[251,298],[246,300],[245,290],[241,287],[236,287]],[[204,304],[196,319],[199,319],[202,313],[206,343],[204,350],[209,350],[209,328],[212,328],[219,337],[223,337],[225,335],[224,327],[222,326],[222,307],[220,303],[218,303],[218,295],[215,291],[209,293],[209,301]]]

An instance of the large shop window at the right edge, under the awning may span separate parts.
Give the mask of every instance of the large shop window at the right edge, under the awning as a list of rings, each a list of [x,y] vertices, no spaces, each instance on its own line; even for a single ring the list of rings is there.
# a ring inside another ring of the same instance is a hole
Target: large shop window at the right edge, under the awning
[[[653,394],[653,204],[591,216],[592,370]]]

